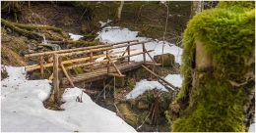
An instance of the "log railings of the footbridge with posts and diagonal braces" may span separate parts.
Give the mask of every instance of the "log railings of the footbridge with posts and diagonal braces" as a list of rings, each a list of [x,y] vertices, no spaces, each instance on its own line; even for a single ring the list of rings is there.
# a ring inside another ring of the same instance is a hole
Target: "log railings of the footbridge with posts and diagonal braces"
[[[70,78],[70,75],[67,72],[67,69],[72,69],[74,67],[86,67],[90,66],[90,70],[96,70],[94,69],[94,65],[97,64],[107,64],[107,75],[109,76],[124,76],[121,71],[116,67],[114,61],[119,60],[119,59],[125,59],[127,58],[127,62],[130,62],[130,57],[132,56],[137,56],[137,55],[143,55],[143,64],[147,66],[160,66],[160,64],[157,64],[152,56],[149,54],[150,52],[153,52],[154,50],[146,50],[145,44],[148,42],[151,42],[152,40],[147,40],[147,41],[141,41],[139,42],[138,40],[130,40],[130,41],[122,41],[122,42],[117,42],[117,43],[109,43],[109,44],[103,44],[103,45],[97,45],[97,46],[91,46],[91,47],[83,47],[83,48],[75,48],[75,49],[68,49],[68,50],[60,50],[60,51],[51,51],[51,52],[43,52],[43,53],[34,53],[30,55],[25,55],[25,58],[30,58],[30,57],[40,57],[40,62],[37,66],[30,66],[30,67],[25,67],[26,71],[32,71],[34,69],[40,69],[41,77],[43,78],[43,69],[44,67],[53,67],[53,86],[54,90],[59,88],[59,79],[58,79],[58,72],[60,70],[63,71],[65,74],[66,78],[68,79],[70,85],[72,87],[75,87],[73,81]],[[131,49],[130,46],[133,45],[142,45],[142,52],[131,54],[131,51],[134,51],[135,49]],[[109,50],[116,49],[116,48],[122,48],[126,47],[125,51],[118,51],[114,53],[109,53]],[[105,52],[105,54],[101,55],[94,55],[96,52]],[[111,55],[115,54],[120,54],[123,53],[122,56],[120,57],[114,57],[111,58]],[[127,55],[125,55],[127,53]],[[69,61],[62,61],[62,57],[71,57],[74,55],[82,55],[82,54],[90,54],[89,57],[85,58],[79,58],[79,59],[73,59]],[[146,54],[151,58],[153,63],[146,63]],[[48,63],[44,64],[44,56],[52,56],[53,57],[53,63]],[[96,58],[99,57],[105,57],[104,60],[102,61],[94,61]],[[76,63],[76,62],[81,62],[81,61],[90,61],[89,63],[84,63],[84,64],[78,64],[78,65],[73,65],[69,67],[64,67],[63,65],[65,64],[70,64],[70,63]],[[110,64],[114,67],[117,73],[110,72]]]

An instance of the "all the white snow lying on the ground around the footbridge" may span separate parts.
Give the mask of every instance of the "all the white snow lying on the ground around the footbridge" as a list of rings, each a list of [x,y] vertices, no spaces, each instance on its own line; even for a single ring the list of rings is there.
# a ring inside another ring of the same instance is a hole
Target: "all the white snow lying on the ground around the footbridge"
[[[100,22],[101,25],[105,22]],[[138,39],[149,40],[146,37],[136,37],[138,31],[118,26],[107,26],[98,32],[97,38],[104,43],[127,41]],[[78,40],[81,35],[70,33],[71,38]],[[146,43],[146,49],[155,51],[152,56],[162,53],[170,53],[175,56],[176,63],[181,64],[182,49],[170,44],[155,40]],[[136,49],[133,53],[142,52],[142,46],[132,46]],[[115,49],[115,51],[125,48]],[[132,53],[131,53],[132,54]],[[102,59],[98,59],[102,60]],[[142,56],[132,57],[133,61],[142,61]],[[147,57],[147,61],[151,61]],[[1,81],[1,131],[2,132],[135,132],[136,130],[116,115],[97,106],[91,98],[82,93],[80,88],[69,88],[63,96],[62,105],[65,111],[51,111],[43,107],[42,102],[49,96],[51,81],[49,80],[27,80],[24,67],[6,67],[9,77]],[[182,78],[179,74],[169,74],[163,77],[165,80],[180,87]],[[136,83],[135,88],[126,98],[132,99],[142,95],[146,90],[154,88],[167,91],[157,81],[142,79]],[[82,95],[83,94],[83,95]],[[83,103],[76,102],[77,97],[82,97]],[[254,124],[249,131],[254,132]]]

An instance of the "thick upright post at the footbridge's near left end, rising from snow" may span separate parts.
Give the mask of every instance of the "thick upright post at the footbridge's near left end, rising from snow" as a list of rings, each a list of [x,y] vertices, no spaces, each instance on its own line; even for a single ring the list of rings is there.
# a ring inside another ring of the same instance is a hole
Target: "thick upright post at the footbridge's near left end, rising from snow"
[[[58,103],[59,99],[59,77],[58,77],[58,55],[54,54],[53,56],[53,93],[54,101]]]

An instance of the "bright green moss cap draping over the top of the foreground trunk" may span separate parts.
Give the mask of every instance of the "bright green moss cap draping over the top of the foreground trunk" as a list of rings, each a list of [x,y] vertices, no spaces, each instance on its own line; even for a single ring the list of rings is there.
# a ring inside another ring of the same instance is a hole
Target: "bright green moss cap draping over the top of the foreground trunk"
[[[180,73],[183,84],[178,99],[185,96],[187,85],[192,79],[196,39],[203,42],[205,51],[212,56],[214,67],[230,67],[234,62],[244,63],[252,55],[255,10],[237,8],[239,6],[205,10],[188,22],[182,41],[184,49]]]

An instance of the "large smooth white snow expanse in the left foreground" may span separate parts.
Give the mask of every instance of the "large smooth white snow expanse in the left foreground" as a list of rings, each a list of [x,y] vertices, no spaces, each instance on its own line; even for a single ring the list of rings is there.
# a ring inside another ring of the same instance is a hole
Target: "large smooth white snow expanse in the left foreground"
[[[43,107],[51,90],[50,80],[27,80],[25,67],[6,67],[1,81],[1,131],[3,132],[136,132],[116,115],[103,109],[82,89],[66,89],[65,111]],[[83,103],[76,102],[82,97]]]

